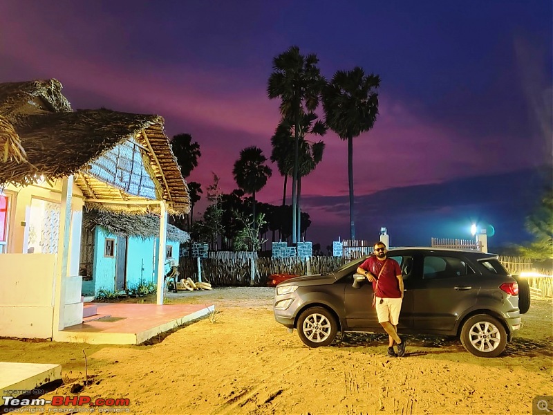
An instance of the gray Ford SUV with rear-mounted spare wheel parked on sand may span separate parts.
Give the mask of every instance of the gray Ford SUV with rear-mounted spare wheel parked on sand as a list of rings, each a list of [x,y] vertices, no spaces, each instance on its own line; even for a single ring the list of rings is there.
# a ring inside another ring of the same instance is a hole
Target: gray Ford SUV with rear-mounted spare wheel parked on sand
[[[521,327],[521,312],[529,307],[528,288],[521,293],[521,310],[518,282],[497,255],[398,248],[387,256],[400,264],[404,279],[399,333],[456,335],[467,351],[491,358],[503,352]],[[275,289],[274,318],[297,329],[309,347],[328,346],[338,331],[384,332],[371,306],[373,286],[356,275],[365,259],[332,273],[282,282]]]

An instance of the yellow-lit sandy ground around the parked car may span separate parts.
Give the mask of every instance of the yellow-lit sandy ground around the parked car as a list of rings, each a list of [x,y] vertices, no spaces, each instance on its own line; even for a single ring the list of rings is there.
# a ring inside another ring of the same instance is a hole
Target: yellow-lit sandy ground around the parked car
[[[44,397],[75,396],[84,349],[92,382],[79,394],[129,398],[118,410],[132,414],[532,414],[535,396],[553,395],[551,300],[533,300],[499,358],[437,336],[409,336],[406,356],[387,358],[382,335],[309,349],[274,321],[273,290],[169,294],[170,303],[215,304],[216,321],[149,346],[0,340],[0,360],[61,364],[64,385]]]

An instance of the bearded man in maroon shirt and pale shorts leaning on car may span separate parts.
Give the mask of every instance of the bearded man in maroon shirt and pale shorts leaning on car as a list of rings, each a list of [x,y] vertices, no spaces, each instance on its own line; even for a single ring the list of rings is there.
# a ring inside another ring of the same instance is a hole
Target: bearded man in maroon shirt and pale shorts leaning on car
[[[388,356],[404,356],[406,340],[397,335],[397,322],[403,300],[403,278],[400,264],[386,257],[386,245],[377,242],[374,245],[375,255],[368,257],[357,268],[357,273],[364,275],[373,283],[376,295],[375,308],[378,322],[388,333]],[[397,354],[393,344],[397,344]]]

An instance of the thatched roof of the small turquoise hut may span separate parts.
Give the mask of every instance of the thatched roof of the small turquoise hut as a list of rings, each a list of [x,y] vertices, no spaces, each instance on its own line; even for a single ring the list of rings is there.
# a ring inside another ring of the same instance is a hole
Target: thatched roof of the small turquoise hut
[[[92,210],[83,213],[82,222],[86,229],[92,230],[100,225],[113,234],[125,237],[148,239],[158,237],[160,234],[160,217],[155,214],[136,215]],[[185,243],[190,240],[190,235],[167,223],[167,239]]]

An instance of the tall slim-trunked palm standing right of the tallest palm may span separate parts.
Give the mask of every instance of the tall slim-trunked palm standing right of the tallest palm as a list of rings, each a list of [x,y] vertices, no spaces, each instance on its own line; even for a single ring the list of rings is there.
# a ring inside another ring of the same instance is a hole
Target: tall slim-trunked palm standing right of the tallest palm
[[[353,138],[370,130],[378,114],[378,75],[365,75],[356,66],[353,71],[337,71],[323,93],[326,124],[342,140],[348,140],[348,181],[350,191],[350,237],[355,239],[353,217]]]

